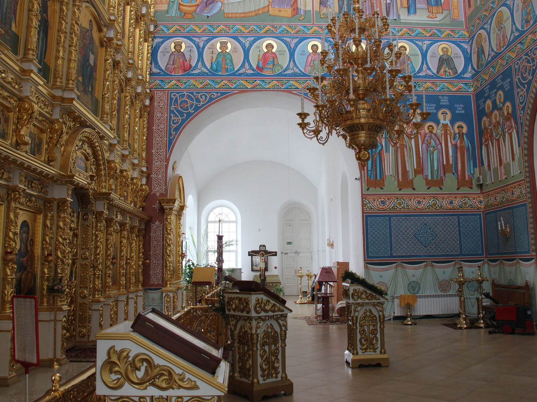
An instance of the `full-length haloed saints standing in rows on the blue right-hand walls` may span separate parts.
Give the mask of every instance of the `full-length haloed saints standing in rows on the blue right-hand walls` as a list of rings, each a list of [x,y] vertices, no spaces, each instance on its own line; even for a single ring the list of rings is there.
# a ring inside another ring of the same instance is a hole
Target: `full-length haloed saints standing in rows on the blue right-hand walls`
[[[453,174],[456,189],[473,189],[477,169],[474,141],[463,121],[451,123],[451,113],[442,109],[438,124],[427,122],[416,132],[405,125],[403,134],[393,143],[386,132],[379,135],[376,147],[369,150],[367,162],[367,190],[383,190],[387,181],[395,182],[397,189],[416,190],[419,176],[427,190],[443,190],[446,175]],[[482,164],[487,184],[520,174],[520,148],[516,123],[511,114],[511,103],[502,104],[492,112],[487,102],[487,116],[482,120]]]

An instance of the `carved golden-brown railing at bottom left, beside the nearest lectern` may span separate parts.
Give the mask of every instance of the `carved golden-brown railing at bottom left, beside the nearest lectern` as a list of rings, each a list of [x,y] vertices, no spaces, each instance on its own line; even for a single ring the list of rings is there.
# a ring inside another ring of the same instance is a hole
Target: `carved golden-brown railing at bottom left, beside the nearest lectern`
[[[101,402],[103,398],[95,394],[95,364],[80,374],[60,384],[59,374],[52,376],[52,388],[35,402]]]

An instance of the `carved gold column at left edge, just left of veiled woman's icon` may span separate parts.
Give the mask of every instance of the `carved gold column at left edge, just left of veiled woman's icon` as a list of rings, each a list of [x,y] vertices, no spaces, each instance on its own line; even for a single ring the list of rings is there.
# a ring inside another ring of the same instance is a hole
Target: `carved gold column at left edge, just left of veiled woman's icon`
[[[23,193],[19,190],[8,191],[8,220],[6,221],[4,239],[4,272],[2,285],[2,310],[0,313],[11,313],[11,297],[15,294],[15,264],[19,229],[19,202]]]

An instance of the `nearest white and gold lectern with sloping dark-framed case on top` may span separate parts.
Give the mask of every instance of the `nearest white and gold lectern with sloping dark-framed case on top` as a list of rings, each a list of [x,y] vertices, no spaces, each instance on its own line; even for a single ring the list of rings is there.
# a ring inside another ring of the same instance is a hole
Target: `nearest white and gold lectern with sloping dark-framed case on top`
[[[96,338],[96,393],[106,402],[221,402],[227,392],[222,348],[155,309]]]

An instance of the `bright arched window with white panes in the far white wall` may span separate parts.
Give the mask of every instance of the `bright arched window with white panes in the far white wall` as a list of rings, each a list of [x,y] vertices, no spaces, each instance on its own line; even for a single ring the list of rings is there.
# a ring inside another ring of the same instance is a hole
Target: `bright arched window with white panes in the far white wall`
[[[223,238],[223,268],[237,267],[237,219],[233,211],[225,206],[219,206],[209,212],[207,217],[207,249],[209,262],[216,261],[216,235]]]

